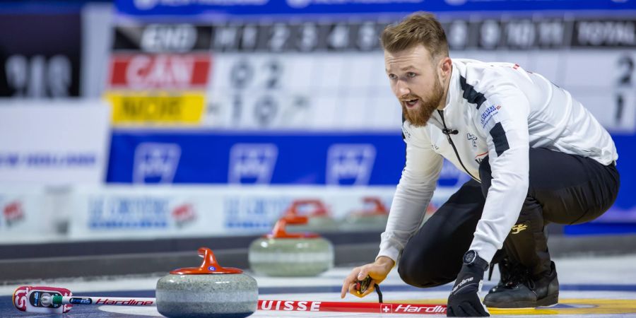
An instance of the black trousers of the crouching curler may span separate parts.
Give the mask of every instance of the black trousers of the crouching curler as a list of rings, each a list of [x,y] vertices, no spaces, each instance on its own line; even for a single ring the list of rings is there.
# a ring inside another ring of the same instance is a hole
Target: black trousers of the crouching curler
[[[578,155],[531,148],[529,158],[528,195],[504,249],[538,276],[550,270],[545,225],[598,218],[616,200],[620,178],[615,165]],[[492,180],[488,158],[482,161],[479,176],[481,184],[466,182],[406,243],[398,271],[409,285],[433,287],[457,278]]]

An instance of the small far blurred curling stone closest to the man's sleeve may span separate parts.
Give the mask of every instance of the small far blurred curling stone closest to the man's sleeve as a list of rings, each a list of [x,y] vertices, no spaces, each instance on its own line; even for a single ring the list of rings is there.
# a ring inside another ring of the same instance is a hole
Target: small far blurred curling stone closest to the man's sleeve
[[[351,212],[344,219],[343,230],[384,230],[387,227],[389,211],[382,200],[374,196],[363,199],[365,209]]]

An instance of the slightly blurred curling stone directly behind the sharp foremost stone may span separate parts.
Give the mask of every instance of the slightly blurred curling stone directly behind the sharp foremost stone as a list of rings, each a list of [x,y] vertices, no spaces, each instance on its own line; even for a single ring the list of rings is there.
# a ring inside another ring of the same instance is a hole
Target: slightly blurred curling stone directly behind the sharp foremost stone
[[[334,246],[314,233],[286,232],[287,224],[307,223],[306,216],[281,218],[271,234],[249,246],[249,266],[265,276],[317,276],[334,267]]]

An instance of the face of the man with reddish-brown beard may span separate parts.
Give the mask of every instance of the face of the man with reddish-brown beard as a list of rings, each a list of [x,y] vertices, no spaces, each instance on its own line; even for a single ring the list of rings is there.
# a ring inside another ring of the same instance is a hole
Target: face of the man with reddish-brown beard
[[[384,52],[384,66],[406,120],[413,126],[424,126],[444,95],[428,49],[418,45],[401,52]]]

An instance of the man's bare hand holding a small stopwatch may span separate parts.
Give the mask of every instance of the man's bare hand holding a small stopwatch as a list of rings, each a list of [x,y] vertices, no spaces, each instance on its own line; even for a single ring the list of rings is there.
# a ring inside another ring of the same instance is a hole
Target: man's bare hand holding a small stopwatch
[[[340,298],[344,298],[345,295],[347,295],[347,291],[351,295],[355,295],[360,298],[369,295],[369,293],[371,293],[375,289],[373,288],[373,285],[382,283],[382,281],[384,281],[384,278],[387,278],[387,275],[389,275],[389,271],[393,269],[394,265],[395,261],[393,261],[393,259],[389,259],[389,257],[378,257],[375,262],[371,264],[356,267],[342,282],[342,291],[340,294]],[[358,290],[355,289],[355,283],[357,283],[358,281],[362,281],[367,276],[371,276],[369,288],[367,288],[364,293],[359,294]]]

